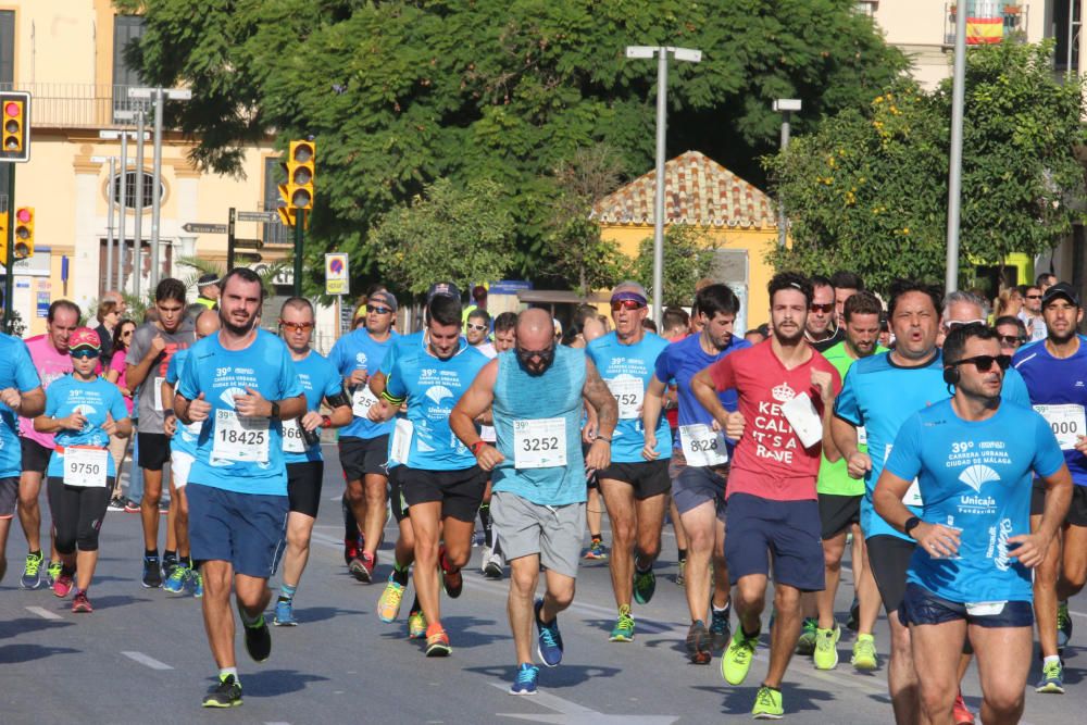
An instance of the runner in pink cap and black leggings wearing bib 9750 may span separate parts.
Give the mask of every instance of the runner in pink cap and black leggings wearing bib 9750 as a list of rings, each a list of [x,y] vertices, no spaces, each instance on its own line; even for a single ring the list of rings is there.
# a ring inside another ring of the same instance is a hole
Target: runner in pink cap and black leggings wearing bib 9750
[[[66,597],[75,576],[72,611],[92,612],[87,590],[95,576],[98,533],[116,476],[110,436],[132,435],[133,422],[117,386],[95,372],[101,354],[98,333],[79,327],[68,338],[68,350],[74,371],[49,386],[45,413],[34,418],[34,429],[55,434],[48,470],[49,511],[61,573],[53,582],[53,593]]]

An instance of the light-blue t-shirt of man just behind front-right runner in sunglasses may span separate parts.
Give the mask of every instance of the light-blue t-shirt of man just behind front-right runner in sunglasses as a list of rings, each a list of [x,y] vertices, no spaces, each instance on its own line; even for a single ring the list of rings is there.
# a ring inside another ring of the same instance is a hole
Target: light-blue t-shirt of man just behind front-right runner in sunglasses
[[[944,355],[939,350],[930,362],[919,367],[896,365],[890,353],[885,352],[858,360],[849,368],[835,401],[834,414],[852,425],[864,426],[867,434],[872,470],[864,476],[864,500],[861,501],[864,538],[909,538],[876,513],[872,505],[872,491],[902,423],[922,408],[950,397],[948,385],[944,382]],[[1030,404],[1023,377],[1012,368],[1004,375],[1001,399],[1021,405]],[[921,511],[920,508],[911,510],[919,514]]]

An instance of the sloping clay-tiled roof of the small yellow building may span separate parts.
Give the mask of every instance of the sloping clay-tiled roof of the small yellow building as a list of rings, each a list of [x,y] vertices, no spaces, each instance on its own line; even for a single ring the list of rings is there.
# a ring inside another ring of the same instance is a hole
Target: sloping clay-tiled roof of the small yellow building
[[[592,205],[605,224],[653,224],[657,172],[651,171]],[[770,197],[716,161],[687,151],[664,164],[664,222],[699,226],[777,226]]]

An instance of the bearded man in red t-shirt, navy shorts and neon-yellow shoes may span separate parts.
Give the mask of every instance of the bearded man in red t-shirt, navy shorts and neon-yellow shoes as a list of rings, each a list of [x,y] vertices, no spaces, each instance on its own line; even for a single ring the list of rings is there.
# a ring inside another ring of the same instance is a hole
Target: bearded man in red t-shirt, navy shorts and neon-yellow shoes
[[[752,714],[784,714],[782,679],[800,636],[800,593],[823,589],[823,545],[815,478],[827,424],[841,378],[804,341],[812,285],[783,272],[770,282],[769,340],[722,358],[691,379],[691,391],[722,428],[741,418],[726,492],[725,559],[736,586],[740,626],[721,659],[721,674],[739,685],[751,666],[774,562],[776,623],[770,667]],[[717,393],[735,389],[739,411],[729,414]],[[808,446],[804,445],[808,442]]]

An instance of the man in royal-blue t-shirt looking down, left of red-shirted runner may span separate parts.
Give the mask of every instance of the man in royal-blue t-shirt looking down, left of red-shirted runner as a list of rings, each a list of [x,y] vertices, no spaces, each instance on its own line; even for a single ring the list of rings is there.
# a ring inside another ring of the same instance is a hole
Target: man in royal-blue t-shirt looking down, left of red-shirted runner
[[[699,290],[695,297],[695,314],[702,318],[702,332],[670,345],[657,359],[641,411],[642,428],[646,430],[642,455],[650,459],[657,452],[653,430],[660,416],[665,384],[675,380],[679,414],[673,458],[684,457],[686,465],[672,482],[672,498],[679,512],[683,530],[687,534],[684,586],[691,622],[687,630],[687,657],[696,664],[709,664],[713,654],[728,645],[732,634],[732,602],[724,546],[725,479],[734,443],[717,429],[713,416],[695,398],[690,380],[699,371],[725,355],[751,347],[747,340],[733,335],[739,307],[736,293],[727,285],[710,285]],[[723,391],[719,400],[726,411],[736,412],[734,390]],[[709,617],[707,602],[710,602]],[[709,628],[705,626],[708,618]]]

